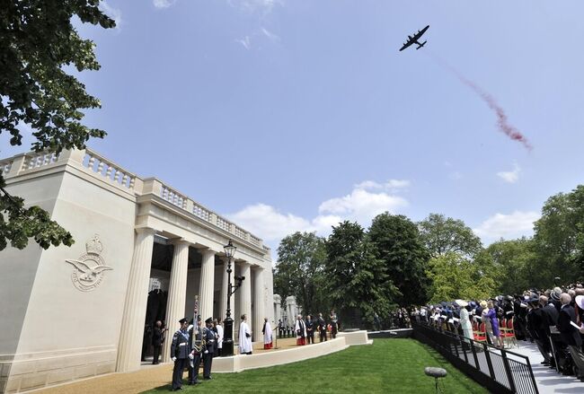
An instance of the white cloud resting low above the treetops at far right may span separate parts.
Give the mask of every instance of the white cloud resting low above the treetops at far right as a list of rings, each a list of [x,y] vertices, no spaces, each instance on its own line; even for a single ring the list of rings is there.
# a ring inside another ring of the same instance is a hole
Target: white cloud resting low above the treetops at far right
[[[539,219],[537,212],[515,211],[512,214],[495,214],[481,223],[475,232],[486,243],[500,238],[512,239],[530,236],[534,232],[534,222]]]

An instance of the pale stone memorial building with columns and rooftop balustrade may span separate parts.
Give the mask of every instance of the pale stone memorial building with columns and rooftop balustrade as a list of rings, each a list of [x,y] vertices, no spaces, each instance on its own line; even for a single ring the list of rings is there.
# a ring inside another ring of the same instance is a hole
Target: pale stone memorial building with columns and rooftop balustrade
[[[196,299],[203,319],[225,319],[229,240],[234,275],[245,276],[231,300],[234,328],[246,313],[261,340],[263,318],[274,320],[270,249],[163,181],[89,149],[16,155],[0,172],[9,193],[75,238],[0,251],[0,392],[137,370],[155,320],[172,336]]]

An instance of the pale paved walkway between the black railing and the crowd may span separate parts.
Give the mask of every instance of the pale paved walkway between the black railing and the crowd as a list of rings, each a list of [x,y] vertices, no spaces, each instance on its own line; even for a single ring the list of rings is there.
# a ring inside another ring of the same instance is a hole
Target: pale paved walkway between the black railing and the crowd
[[[519,341],[519,348],[514,347],[512,351],[529,357],[529,363],[531,363],[540,394],[584,393],[584,382],[573,376],[563,376],[550,367],[542,365],[541,362],[544,361],[544,357],[539,353],[535,344]]]

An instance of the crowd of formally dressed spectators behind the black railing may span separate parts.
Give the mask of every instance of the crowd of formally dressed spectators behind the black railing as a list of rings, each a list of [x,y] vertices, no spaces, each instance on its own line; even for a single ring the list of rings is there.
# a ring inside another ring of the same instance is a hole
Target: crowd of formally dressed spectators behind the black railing
[[[411,320],[500,348],[507,337],[533,342],[544,357],[542,364],[584,381],[583,285],[529,289],[490,300],[439,302],[412,308],[410,316]]]

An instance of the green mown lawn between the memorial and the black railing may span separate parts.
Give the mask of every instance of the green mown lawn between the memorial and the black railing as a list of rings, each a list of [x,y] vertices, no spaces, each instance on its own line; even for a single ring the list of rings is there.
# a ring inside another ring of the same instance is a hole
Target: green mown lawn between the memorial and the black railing
[[[183,385],[181,392],[433,393],[434,380],[424,375],[427,366],[447,370],[447,377],[441,380],[445,393],[488,392],[430,347],[413,339],[376,339],[372,346],[350,346],[339,353],[303,362],[239,373],[214,373],[212,381]],[[146,392],[168,390],[170,385]]]

